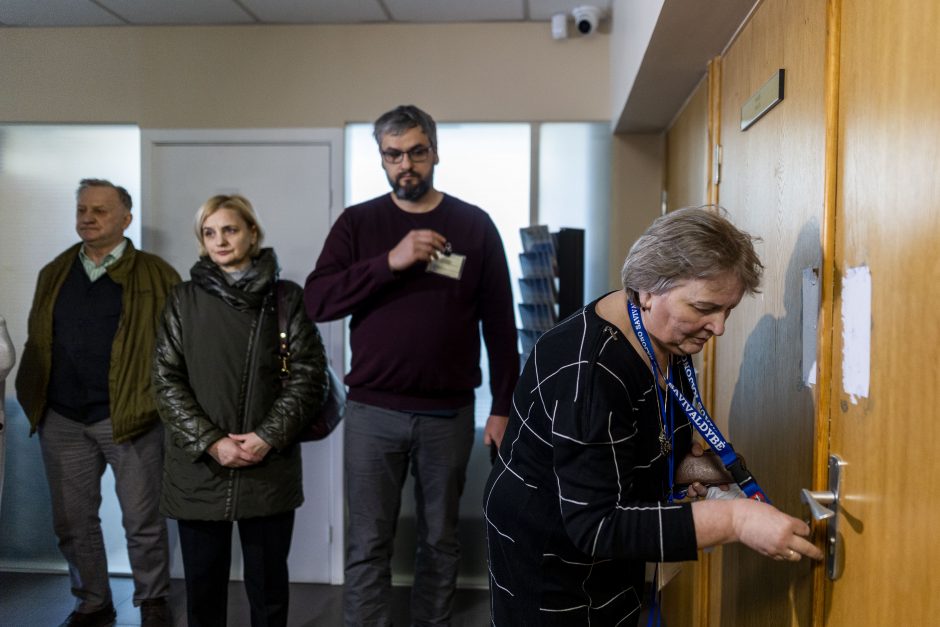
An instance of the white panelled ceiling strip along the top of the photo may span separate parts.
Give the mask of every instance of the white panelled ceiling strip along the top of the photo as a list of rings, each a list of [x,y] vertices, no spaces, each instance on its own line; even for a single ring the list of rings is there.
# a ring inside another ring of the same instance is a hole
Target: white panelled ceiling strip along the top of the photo
[[[0,26],[549,21],[611,0],[2,0]]]

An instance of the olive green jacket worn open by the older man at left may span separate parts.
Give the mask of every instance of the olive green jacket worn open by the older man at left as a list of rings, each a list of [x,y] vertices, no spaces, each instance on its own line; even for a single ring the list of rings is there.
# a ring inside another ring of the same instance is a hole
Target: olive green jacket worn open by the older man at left
[[[16,396],[35,433],[46,411],[52,371],[52,315],[59,290],[78,257],[81,243],[39,272],[29,312],[28,337],[16,375]],[[108,276],[122,287],[121,319],[111,346],[108,389],[115,442],[131,440],[159,421],[150,384],[156,327],[170,288],[180,276],[168,263],[134,248],[128,241]]]

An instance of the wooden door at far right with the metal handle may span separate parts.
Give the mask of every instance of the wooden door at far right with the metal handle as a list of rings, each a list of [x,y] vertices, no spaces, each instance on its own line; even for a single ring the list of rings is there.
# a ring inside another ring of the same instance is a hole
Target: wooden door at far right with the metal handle
[[[842,3],[831,451],[844,574],[825,624],[940,624],[940,3]],[[842,293],[871,274],[867,396],[846,394]]]

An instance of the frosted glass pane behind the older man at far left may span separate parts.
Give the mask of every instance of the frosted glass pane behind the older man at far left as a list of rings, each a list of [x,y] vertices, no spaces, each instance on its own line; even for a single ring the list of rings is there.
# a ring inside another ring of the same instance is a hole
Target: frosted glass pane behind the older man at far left
[[[83,178],[106,178],[134,200],[134,220],[125,234],[140,246],[140,131],[128,125],[0,124],[0,316],[6,318],[19,353],[26,341],[36,277],[53,257],[79,241],[75,190]],[[20,356],[22,356],[20,354]],[[26,416],[6,385],[7,425],[0,432],[0,485],[6,449],[6,485],[0,510],[0,567],[62,569],[52,533],[49,493]],[[5,440],[5,441],[4,441]],[[29,477],[28,481],[17,478]],[[41,484],[36,483],[39,478]],[[112,572],[129,573],[121,513],[111,470],[102,478],[101,526]]]

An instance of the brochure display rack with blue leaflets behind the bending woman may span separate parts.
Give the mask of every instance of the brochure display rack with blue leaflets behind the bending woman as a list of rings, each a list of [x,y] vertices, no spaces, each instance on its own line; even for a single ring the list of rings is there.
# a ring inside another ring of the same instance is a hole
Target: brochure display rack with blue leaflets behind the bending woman
[[[584,304],[584,230],[520,229],[519,317],[522,363],[538,337]]]

